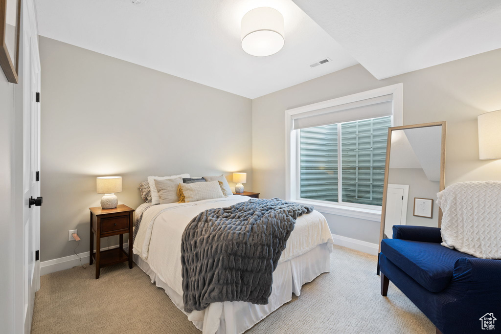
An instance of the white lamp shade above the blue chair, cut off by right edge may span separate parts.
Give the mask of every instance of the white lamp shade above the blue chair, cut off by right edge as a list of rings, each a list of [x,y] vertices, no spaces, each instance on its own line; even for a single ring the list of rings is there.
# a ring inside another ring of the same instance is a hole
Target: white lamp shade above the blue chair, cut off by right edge
[[[478,116],[480,160],[501,159],[501,110]]]

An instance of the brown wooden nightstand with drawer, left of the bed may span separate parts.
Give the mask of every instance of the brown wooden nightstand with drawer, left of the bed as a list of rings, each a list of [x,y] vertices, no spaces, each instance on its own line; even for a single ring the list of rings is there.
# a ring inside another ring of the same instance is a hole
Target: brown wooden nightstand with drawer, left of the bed
[[[89,208],[90,220],[90,259],[89,265],[96,261],[96,279],[102,267],[129,261],[132,269],[132,224],[134,209],[119,204],[114,209],[103,209],[100,206]],[[129,253],[123,249],[124,234],[129,233]],[[94,234],[96,234],[96,252],[94,253]],[[120,235],[120,247],[101,251],[101,238]]]

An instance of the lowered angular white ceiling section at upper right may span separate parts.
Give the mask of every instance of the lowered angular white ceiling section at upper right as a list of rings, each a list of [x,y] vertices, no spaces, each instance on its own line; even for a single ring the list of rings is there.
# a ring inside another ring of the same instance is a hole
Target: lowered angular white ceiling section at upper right
[[[501,48],[499,0],[294,0],[381,80]]]

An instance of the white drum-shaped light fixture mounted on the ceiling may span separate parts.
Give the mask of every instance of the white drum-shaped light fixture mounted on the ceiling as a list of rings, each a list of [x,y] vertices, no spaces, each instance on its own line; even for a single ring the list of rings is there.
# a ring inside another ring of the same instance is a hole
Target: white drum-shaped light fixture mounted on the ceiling
[[[271,56],[282,50],[284,43],[284,17],[279,11],[261,7],[243,16],[241,44],[249,55]]]

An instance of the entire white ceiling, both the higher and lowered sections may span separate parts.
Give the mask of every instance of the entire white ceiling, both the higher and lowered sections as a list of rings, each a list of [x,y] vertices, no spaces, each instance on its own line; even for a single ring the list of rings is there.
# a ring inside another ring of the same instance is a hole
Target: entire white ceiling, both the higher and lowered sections
[[[384,79],[501,48],[499,0],[36,2],[42,36],[247,98],[357,62]],[[254,57],[240,21],[264,6],[283,14],[285,46]]]

